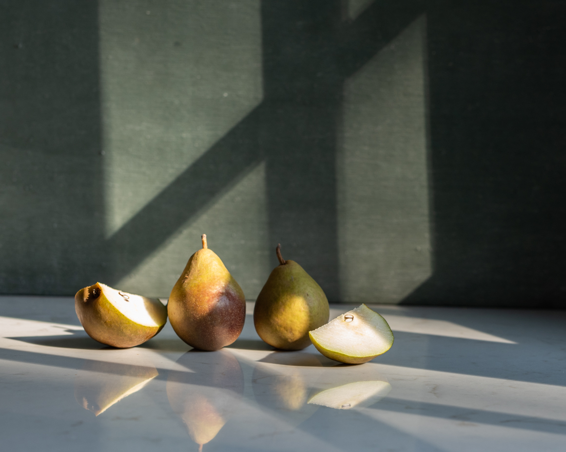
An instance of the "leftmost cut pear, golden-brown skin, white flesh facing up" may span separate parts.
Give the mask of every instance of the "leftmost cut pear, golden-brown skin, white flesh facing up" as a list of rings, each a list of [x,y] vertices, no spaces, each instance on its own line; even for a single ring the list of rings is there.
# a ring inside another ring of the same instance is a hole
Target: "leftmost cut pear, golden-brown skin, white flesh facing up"
[[[159,299],[122,292],[100,282],[76,293],[75,311],[90,337],[119,348],[143,344],[167,321],[167,308]]]

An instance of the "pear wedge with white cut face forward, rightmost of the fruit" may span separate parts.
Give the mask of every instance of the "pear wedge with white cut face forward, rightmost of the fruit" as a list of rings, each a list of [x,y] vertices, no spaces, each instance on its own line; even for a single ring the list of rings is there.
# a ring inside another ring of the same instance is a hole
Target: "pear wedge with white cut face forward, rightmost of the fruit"
[[[393,345],[387,321],[366,305],[308,332],[312,344],[325,357],[346,364],[365,363]]]

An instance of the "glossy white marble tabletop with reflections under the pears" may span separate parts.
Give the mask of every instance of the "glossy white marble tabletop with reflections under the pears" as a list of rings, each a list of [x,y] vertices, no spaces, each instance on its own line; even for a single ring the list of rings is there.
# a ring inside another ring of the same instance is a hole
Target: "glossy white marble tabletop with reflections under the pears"
[[[395,343],[344,366],[273,350],[251,315],[222,351],[188,351],[169,324],[117,350],[72,298],[0,297],[2,450],[196,451],[182,418],[207,452],[566,450],[566,312],[372,308]],[[349,409],[308,403],[346,384],[323,396]]]

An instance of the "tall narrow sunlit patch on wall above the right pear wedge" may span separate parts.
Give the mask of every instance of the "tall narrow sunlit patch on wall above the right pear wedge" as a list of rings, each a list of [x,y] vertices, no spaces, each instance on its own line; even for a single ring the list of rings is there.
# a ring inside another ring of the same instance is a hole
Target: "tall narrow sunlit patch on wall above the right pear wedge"
[[[344,85],[342,301],[397,303],[431,275],[425,27],[422,15]]]

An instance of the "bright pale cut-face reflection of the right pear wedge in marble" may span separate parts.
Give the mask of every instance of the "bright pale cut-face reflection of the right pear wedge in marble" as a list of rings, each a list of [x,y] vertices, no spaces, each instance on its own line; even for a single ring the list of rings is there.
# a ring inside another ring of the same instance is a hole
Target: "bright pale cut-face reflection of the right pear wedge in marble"
[[[310,398],[308,403],[338,410],[370,406],[379,402],[391,391],[387,381],[356,381],[337,388],[325,389]]]

